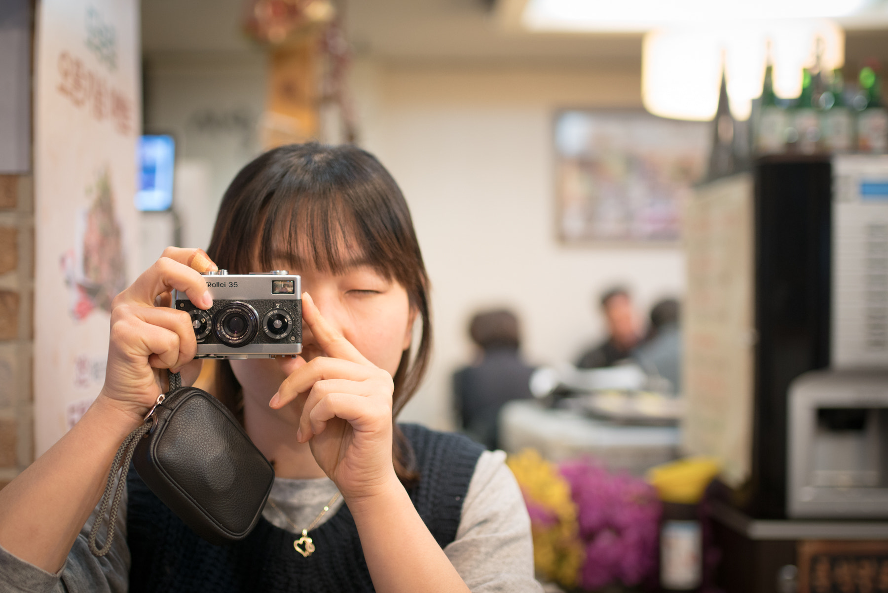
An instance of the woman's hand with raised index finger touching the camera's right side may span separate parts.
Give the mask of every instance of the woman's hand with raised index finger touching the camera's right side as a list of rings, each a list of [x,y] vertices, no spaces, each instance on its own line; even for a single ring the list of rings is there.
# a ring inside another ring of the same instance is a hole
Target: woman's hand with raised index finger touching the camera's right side
[[[346,501],[382,493],[398,477],[392,465],[392,375],[371,363],[321,316],[311,296],[302,315],[327,355],[299,366],[269,405],[303,403],[297,440]]]

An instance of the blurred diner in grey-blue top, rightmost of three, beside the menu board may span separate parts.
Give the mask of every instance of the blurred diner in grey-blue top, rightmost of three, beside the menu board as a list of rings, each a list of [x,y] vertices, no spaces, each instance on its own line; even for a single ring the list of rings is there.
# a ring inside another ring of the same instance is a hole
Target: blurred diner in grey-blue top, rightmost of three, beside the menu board
[[[632,357],[648,375],[670,382],[670,392],[681,393],[680,305],[675,299],[663,299],[651,308],[651,325]]]

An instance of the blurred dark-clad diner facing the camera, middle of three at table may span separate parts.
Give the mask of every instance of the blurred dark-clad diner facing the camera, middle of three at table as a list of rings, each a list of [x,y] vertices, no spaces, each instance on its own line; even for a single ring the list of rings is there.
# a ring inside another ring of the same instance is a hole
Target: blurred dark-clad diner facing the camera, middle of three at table
[[[613,366],[629,358],[638,346],[638,320],[629,291],[621,286],[601,295],[601,312],[607,323],[607,338],[580,357],[576,366],[581,369],[597,369]]]

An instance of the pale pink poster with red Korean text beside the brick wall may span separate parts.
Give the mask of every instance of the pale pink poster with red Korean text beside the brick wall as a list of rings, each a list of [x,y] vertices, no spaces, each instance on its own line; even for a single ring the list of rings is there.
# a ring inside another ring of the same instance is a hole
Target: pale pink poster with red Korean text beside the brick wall
[[[139,4],[43,0],[35,52],[37,455],[105,376],[111,301],[138,273]]]

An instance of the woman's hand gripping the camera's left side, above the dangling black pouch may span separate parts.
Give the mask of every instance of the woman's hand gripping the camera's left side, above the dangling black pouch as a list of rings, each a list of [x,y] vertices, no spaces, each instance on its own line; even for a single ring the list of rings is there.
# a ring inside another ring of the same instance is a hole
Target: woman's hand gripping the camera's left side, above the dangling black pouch
[[[201,273],[189,267],[195,257],[209,261],[202,250],[167,247],[151,268],[112,301],[105,385],[99,398],[121,410],[132,429],[167,390],[166,369],[181,371],[183,384],[191,384],[200,373],[201,361],[194,360],[197,341],[191,317],[170,309],[172,289],[185,292],[201,309],[212,307]],[[207,269],[215,268],[210,261]]]

